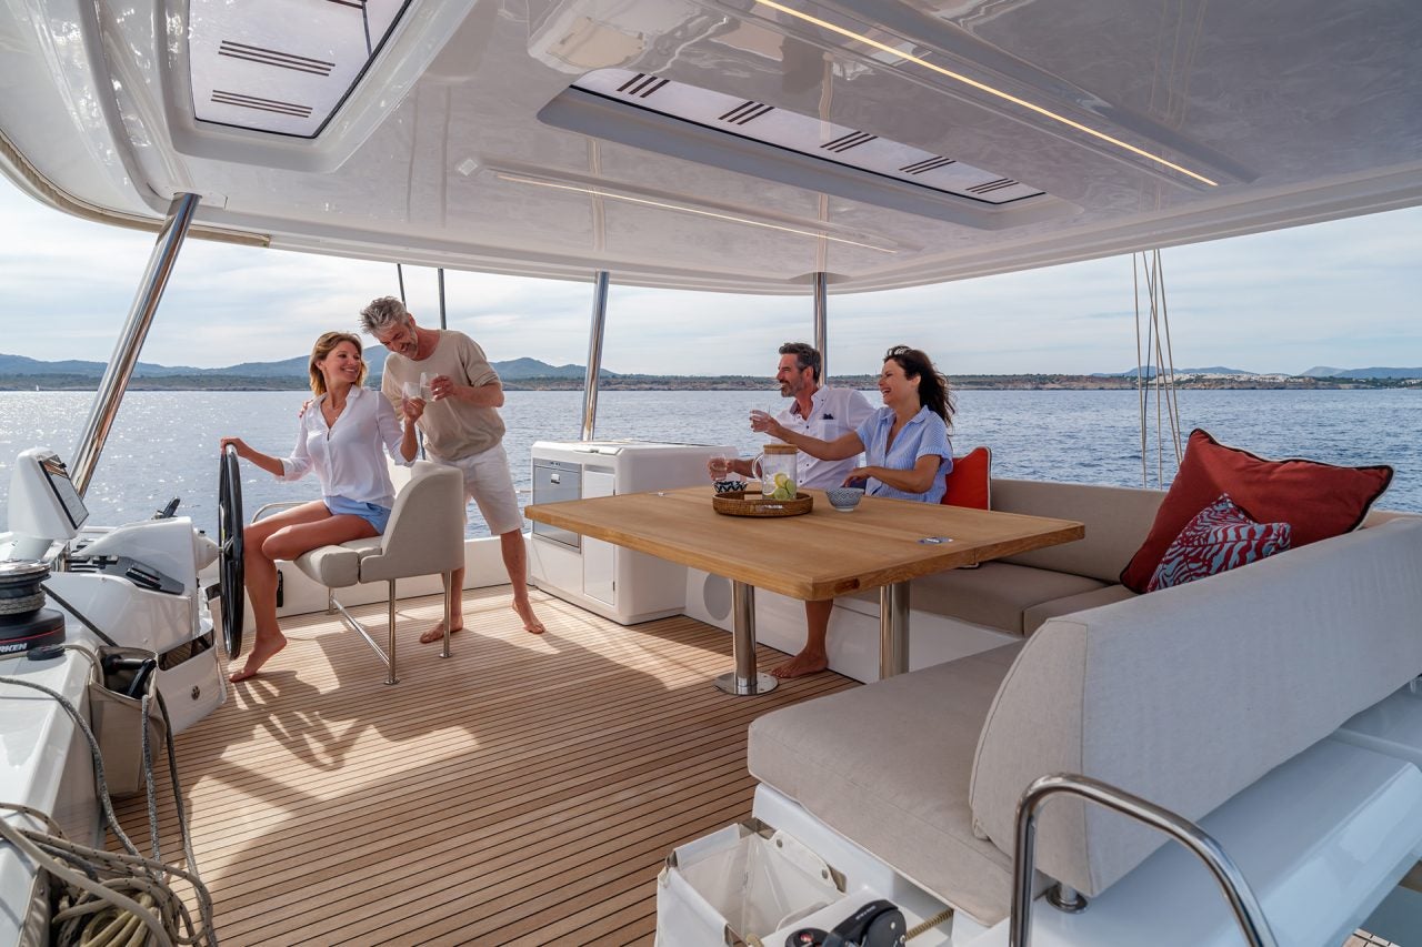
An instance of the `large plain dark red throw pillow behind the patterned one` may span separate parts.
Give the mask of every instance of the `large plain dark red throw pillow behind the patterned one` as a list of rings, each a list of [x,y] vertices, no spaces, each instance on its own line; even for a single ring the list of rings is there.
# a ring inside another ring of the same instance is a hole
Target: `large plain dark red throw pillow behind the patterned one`
[[[1122,570],[1121,583],[1145,592],[1175,537],[1220,493],[1229,493],[1258,522],[1288,523],[1297,549],[1357,529],[1391,482],[1392,468],[1386,465],[1266,461],[1196,429],[1150,535]]]

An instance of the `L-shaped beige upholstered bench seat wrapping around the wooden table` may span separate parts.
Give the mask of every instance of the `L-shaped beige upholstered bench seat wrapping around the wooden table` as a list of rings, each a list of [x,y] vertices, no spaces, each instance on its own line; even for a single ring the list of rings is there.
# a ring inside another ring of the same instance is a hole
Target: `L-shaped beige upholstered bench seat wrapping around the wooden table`
[[[749,732],[759,781],[985,924],[1008,911],[1012,819],[1032,779],[1084,774],[1199,819],[1422,674],[1422,518],[1375,513],[1136,596],[1113,580],[1160,492],[993,489],[995,509],[1078,519],[1086,539],[916,582],[912,604],[1030,637],[766,714]],[[1055,801],[1038,867],[1091,896],[1160,843]]]

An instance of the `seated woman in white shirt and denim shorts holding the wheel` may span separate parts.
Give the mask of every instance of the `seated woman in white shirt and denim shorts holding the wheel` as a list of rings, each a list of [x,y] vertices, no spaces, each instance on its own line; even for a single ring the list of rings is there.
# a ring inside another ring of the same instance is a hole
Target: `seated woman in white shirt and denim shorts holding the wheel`
[[[360,338],[326,333],[316,340],[307,363],[316,398],[301,411],[301,431],[292,456],[277,459],[253,451],[240,438],[222,438],[237,456],[252,461],[283,481],[316,471],[321,499],[267,516],[242,530],[247,597],[256,619],[256,641],[240,671],[229,680],[253,677],[273,654],[286,647],[276,623],[276,559],[292,560],[319,546],[378,536],[385,530],[395,489],[381,448],[397,464],[415,459],[415,421],[424,401],[404,401],[401,431],[395,410],[378,391],[361,387],[365,361]]]

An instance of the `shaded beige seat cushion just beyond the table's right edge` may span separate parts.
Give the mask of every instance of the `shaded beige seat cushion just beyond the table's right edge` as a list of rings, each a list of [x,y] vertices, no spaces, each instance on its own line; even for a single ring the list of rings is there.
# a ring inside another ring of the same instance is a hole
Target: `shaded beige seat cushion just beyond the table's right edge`
[[[1103,584],[1066,572],[988,562],[980,569],[950,569],[914,579],[909,589],[909,607],[1022,634],[1024,609],[1094,592]],[[879,590],[857,597],[877,601]]]

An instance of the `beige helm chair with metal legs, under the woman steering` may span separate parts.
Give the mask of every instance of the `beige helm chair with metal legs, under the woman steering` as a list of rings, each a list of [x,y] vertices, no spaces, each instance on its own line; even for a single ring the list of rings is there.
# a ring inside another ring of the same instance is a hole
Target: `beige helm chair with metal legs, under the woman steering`
[[[454,619],[451,573],[464,566],[464,475],[452,466],[415,461],[410,482],[400,488],[390,522],[381,536],[321,546],[296,559],[296,567],[327,587],[330,610],[375,648],[385,663],[387,684],[395,684],[395,580],[439,573],[445,584],[445,640],[439,657],[449,657],[449,624]],[[365,582],[390,583],[388,653],[340,601],[336,589]]]

